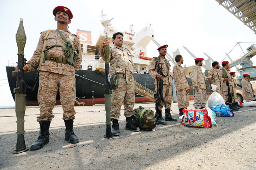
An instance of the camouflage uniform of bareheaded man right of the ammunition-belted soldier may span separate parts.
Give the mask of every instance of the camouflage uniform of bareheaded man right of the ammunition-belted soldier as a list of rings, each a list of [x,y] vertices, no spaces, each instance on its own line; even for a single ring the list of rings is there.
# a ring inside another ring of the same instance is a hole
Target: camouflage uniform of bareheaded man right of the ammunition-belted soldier
[[[178,109],[189,106],[188,90],[192,88],[180,64],[173,67],[173,79],[177,91]]]

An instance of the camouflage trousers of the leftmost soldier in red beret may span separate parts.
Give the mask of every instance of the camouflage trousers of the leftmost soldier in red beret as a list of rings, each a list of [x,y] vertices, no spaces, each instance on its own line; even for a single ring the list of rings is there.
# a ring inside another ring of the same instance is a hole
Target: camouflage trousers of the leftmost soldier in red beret
[[[51,121],[59,87],[60,103],[63,109],[63,120],[75,119],[76,78],[73,75],[62,75],[47,71],[39,72],[37,100],[40,106],[39,121]]]

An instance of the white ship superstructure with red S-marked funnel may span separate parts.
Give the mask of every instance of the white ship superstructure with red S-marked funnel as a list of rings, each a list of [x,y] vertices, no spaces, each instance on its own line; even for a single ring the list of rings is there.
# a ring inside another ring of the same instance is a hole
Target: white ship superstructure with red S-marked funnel
[[[102,13],[101,24],[104,26],[104,31],[101,32],[95,45],[91,42],[91,32],[78,30],[77,35],[80,37],[82,46],[82,63],[81,69],[84,70],[96,70],[97,68],[105,68],[104,60],[100,56],[101,41],[106,37],[108,33],[108,40],[110,41],[110,47],[114,47],[112,43],[112,36],[116,32],[124,34],[123,47],[127,48],[134,55],[132,58],[135,73],[147,74],[151,58],[147,58],[147,45],[152,39],[154,39],[154,30],[151,24],[145,26],[142,30],[135,34],[130,25],[130,31],[118,31],[115,27],[111,26],[111,20],[104,20],[105,15]],[[84,41],[86,40],[86,41]]]

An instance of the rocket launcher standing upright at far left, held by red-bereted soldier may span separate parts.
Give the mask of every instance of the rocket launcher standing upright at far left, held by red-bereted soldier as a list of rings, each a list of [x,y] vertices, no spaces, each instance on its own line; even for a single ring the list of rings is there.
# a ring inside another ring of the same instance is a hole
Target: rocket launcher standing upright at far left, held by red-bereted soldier
[[[24,81],[24,71],[23,66],[26,64],[26,59],[24,58],[24,47],[26,44],[26,34],[23,27],[23,19],[20,18],[20,25],[16,34],[16,42],[18,46],[18,67],[16,71],[12,72],[12,76],[17,78],[16,88],[13,89],[15,94],[15,112],[17,118],[17,144],[16,149],[13,153],[22,153],[27,151],[29,148],[26,147],[24,140],[24,116],[26,110],[26,82]]]

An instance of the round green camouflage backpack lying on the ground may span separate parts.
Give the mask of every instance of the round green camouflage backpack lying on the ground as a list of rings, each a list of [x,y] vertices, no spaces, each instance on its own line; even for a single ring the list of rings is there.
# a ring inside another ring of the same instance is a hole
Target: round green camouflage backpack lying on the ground
[[[134,109],[134,124],[143,130],[152,130],[157,125],[155,114],[150,108],[143,108],[140,106]]]

